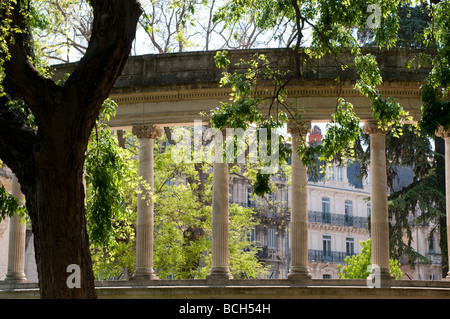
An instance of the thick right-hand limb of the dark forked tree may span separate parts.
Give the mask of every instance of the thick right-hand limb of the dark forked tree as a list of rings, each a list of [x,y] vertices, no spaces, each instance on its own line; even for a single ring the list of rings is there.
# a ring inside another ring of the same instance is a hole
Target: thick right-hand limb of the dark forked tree
[[[91,5],[94,21],[89,46],[65,84],[67,98],[77,101],[79,114],[91,113],[93,104],[98,113],[108,97],[131,51],[142,13],[136,0],[91,0]]]

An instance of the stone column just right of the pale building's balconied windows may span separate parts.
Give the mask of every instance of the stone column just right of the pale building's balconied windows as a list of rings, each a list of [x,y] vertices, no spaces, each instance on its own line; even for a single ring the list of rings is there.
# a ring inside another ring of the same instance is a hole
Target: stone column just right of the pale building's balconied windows
[[[370,193],[371,193],[371,246],[372,273],[369,279],[375,284],[388,285],[389,269],[389,221],[386,174],[387,127],[379,127],[378,121],[367,121],[364,131],[370,135]]]

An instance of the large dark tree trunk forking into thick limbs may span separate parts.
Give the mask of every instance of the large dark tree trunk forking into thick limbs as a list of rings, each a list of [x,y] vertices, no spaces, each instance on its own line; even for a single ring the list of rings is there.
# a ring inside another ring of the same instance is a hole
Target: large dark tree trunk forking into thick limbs
[[[24,38],[9,42],[5,74],[36,119],[37,129],[0,101],[0,158],[21,184],[32,222],[41,298],[95,298],[84,214],[83,167],[88,139],[131,50],[141,14],[134,0],[91,0],[86,55],[62,86],[42,77]],[[23,25],[15,5],[10,18]],[[1,13],[1,12],[0,12]],[[79,276],[68,267],[79,267]],[[75,278],[79,278],[80,285]]]

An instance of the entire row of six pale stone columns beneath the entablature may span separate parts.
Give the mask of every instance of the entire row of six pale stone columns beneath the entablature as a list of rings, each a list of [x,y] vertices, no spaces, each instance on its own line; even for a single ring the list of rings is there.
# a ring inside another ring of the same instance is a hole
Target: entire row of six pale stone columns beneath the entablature
[[[301,140],[306,138],[310,123],[303,126],[288,125],[292,136],[291,168],[291,265],[288,279],[307,282],[311,279],[308,267],[308,225],[307,225],[307,168],[296,152]],[[388,286],[392,276],[389,271],[389,228],[387,206],[385,134],[389,128],[379,127],[376,121],[367,121],[365,132],[370,135],[371,154],[371,243],[372,264],[377,266],[369,279],[378,275],[383,286]],[[135,280],[158,279],[153,269],[153,141],[161,136],[161,129],[155,125],[134,126],[132,130],[140,141],[139,174],[142,177],[142,193],[138,199],[136,230],[136,272]],[[446,198],[450,211],[450,130],[440,129],[437,133],[445,139]],[[213,164],[212,200],[212,264],[210,280],[232,279],[228,263],[228,164]],[[23,202],[23,195],[17,179],[13,178],[13,195]],[[450,225],[450,214],[447,214]],[[450,227],[447,227],[450,239]],[[450,251],[449,251],[450,254]],[[25,225],[18,216],[11,218],[7,279],[26,281],[24,274]],[[450,257],[450,256],[449,256]],[[447,280],[450,278],[450,273]]]

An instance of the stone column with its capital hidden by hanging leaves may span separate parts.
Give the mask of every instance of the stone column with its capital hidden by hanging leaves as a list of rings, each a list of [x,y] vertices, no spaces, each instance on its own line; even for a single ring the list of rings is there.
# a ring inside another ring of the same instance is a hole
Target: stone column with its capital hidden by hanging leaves
[[[225,132],[223,132],[225,141]],[[233,279],[228,267],[228,164],[213,163],[211,272],[208,279]]]

